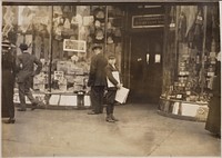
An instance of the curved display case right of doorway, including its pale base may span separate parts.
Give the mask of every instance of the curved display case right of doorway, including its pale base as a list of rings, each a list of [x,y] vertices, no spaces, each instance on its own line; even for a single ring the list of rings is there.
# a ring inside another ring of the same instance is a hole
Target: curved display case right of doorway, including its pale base
[[[205,121],[215,56],[220,51],[219,36],[215,36],[220,28],[216,21],[219,9],[213,6],[179,6],[171,9],[174,14],[171,14],[170,21],[175,21],[175,29],[171,33],[175,37],[174,59],[178,65],[173,69],[174,79],[160,97],[159,112]],[[165,69],[168,71],[171,68]]]

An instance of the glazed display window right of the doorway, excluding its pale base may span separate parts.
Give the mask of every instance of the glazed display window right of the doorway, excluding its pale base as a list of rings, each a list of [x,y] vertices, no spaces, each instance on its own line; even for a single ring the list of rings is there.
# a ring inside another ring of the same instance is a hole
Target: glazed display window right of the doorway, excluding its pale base
[[[205,103],[210,100],[216,55],[220,51],[218,11],[214,6],[171,8],[169,26],[170,32],[175,33],[173,58],[176,66],[174,80],[163,90],[161,97]]]

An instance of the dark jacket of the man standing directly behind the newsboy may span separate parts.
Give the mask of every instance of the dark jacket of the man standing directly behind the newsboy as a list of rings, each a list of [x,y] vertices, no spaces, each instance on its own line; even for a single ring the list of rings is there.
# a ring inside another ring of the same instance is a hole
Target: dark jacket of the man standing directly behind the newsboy
[[[91,59],[88,86],[107,86],[105,67],[108,60],[102,53],[95,55]]]

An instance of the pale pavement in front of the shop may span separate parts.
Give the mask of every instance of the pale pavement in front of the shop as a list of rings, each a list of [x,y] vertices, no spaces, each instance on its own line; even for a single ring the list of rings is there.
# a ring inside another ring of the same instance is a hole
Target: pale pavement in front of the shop
[[[118,122],[89,110],[36,109],[2,124],[2,157],[220,157],[205,122],[161,116],[157,105],[115,107]]]

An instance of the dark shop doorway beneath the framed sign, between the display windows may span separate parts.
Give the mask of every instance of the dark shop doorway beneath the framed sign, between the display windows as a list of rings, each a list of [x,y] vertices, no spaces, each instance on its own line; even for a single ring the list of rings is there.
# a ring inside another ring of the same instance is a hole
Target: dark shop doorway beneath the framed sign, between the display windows
[[[162,89],[163,31],[131,36],[131,102],[159,101]]]

